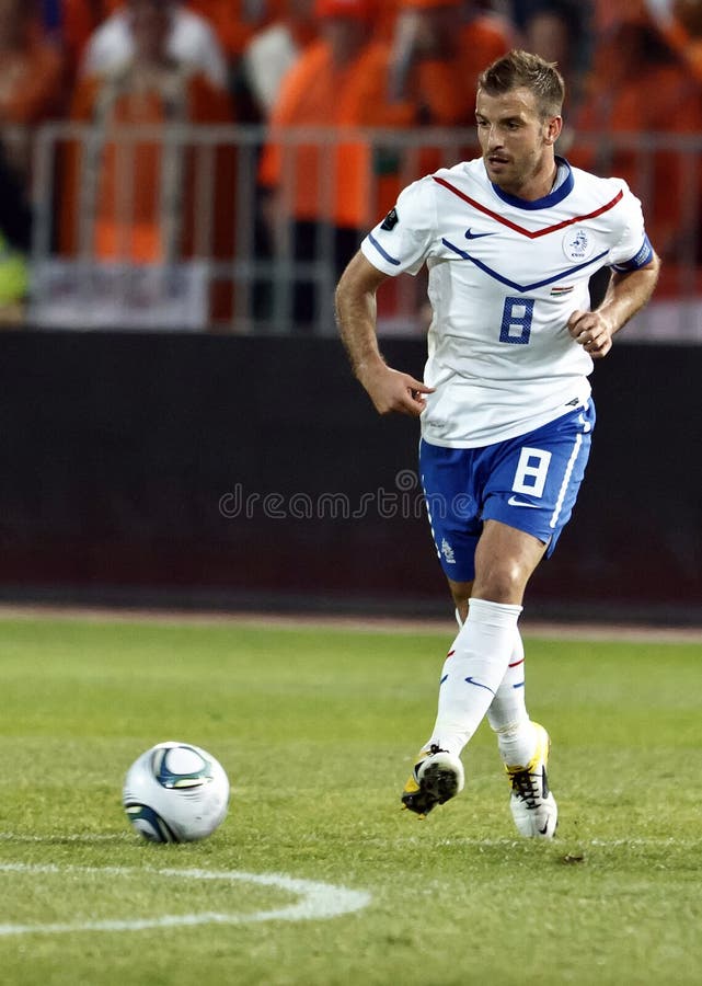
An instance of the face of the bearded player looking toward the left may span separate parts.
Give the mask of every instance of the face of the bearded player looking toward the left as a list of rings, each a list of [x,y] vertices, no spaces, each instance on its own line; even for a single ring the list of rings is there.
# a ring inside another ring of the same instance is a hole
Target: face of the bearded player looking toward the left
[[[498,96],[479,89],[475,119],[491,182],[522,198],[545,195],[550,185],[544,188],[544,184],[553,180],[553,145],[561,133],[561,117],[543,119],[528,89]]]

